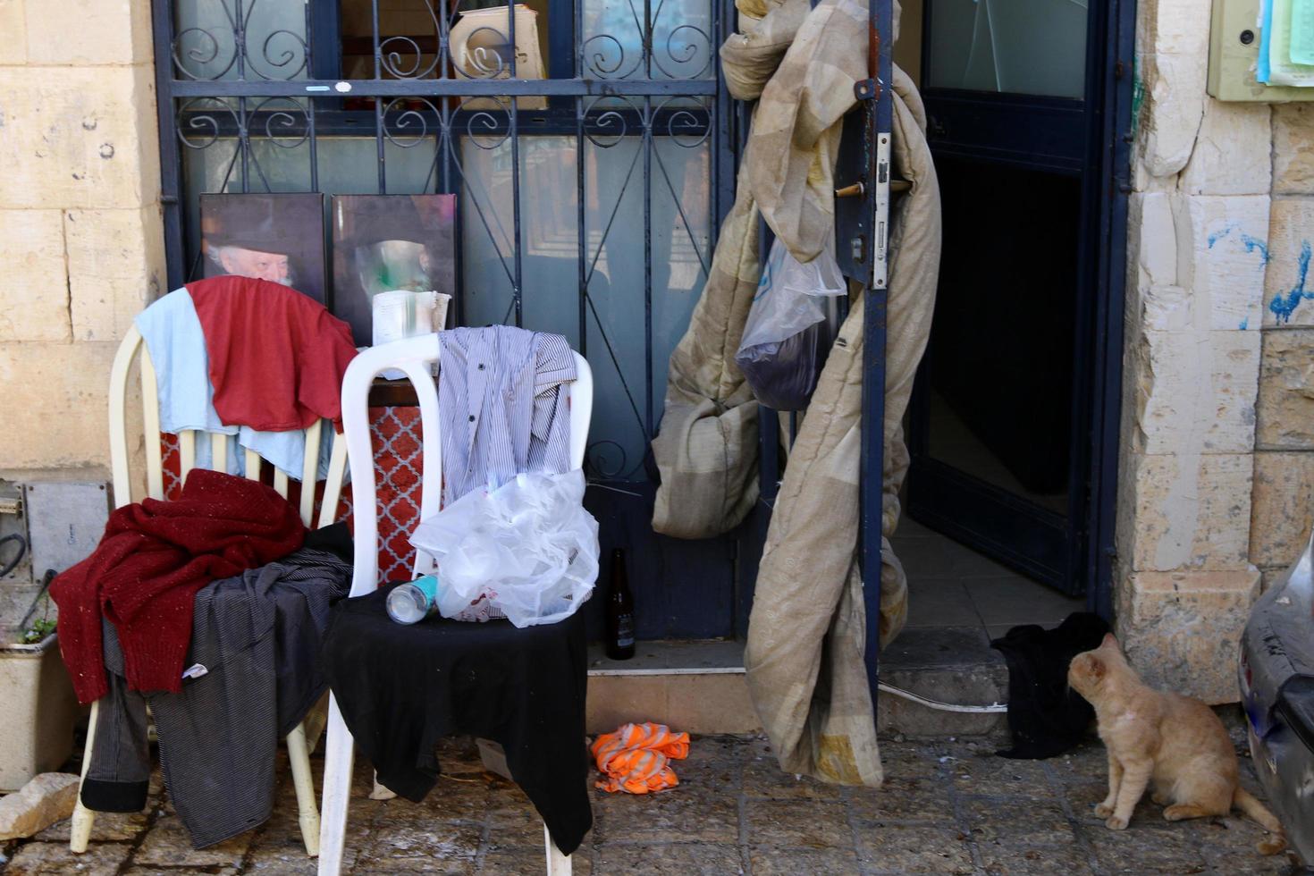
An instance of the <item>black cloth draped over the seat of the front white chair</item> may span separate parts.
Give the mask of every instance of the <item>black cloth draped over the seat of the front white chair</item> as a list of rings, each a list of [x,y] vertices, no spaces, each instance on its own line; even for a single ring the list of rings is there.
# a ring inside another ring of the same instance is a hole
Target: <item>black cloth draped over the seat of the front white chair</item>
[[[396,586],[340,602],[325,634],[328,684],[378,781],[418,802],[438,781],[439,739],[493,739],[569,855],[593,826],[583,617],[524,629],[440,617],[406,626],[385,611]]]

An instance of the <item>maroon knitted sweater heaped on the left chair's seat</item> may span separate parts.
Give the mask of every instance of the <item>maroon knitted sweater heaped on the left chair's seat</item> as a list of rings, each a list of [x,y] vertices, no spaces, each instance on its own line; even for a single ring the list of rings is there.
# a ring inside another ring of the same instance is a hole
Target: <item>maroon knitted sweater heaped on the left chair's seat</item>
[[[129,687],[176,693],[196,591],[292,553],[305,536],[297,510],[273,489],[205,469],[188,475],[176,502],[117,508],[92,556],[50,584],[78,700],[108,692],[102,616],[118,628]]]

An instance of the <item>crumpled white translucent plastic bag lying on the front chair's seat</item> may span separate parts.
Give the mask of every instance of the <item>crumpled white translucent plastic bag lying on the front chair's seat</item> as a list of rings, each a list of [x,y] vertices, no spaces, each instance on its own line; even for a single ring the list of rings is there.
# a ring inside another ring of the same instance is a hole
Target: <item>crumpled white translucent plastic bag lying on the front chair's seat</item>
[[[598,521],[583,510],[583,471],[518,474],[473,490],[415,528],[438,561],[444,617],[516,626],[573,615],[598,580]]]

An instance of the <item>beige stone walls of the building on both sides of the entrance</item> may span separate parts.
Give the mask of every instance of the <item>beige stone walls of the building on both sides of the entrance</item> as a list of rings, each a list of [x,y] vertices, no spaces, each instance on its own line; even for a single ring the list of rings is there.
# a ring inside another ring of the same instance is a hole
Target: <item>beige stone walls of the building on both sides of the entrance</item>
[[[151,12],[147,0],[0,0],[11,479],[106,478],[109,364],[168,290]],[[1314,106],[1210,99],[1209,22],[1209,0],[1137,11],[1108,586],[1150,678],[1230,701],[1247,609],[1314,523]]]

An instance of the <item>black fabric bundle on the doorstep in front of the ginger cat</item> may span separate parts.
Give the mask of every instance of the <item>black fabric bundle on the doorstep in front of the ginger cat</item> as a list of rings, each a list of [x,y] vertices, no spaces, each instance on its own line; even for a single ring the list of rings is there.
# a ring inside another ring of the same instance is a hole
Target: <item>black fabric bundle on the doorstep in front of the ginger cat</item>
[[[991,641],[1008,663],[1008,726],[1013,747],[1003,758],[1041,760],[1063,754],[1085,735],[1095,709],[1068,688],[1072,658],[1100,646],[1109,625],[1099,615],[1074,612],[1055,626],[1014,626]]]

